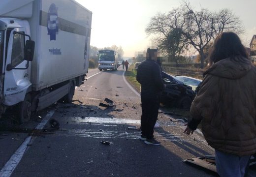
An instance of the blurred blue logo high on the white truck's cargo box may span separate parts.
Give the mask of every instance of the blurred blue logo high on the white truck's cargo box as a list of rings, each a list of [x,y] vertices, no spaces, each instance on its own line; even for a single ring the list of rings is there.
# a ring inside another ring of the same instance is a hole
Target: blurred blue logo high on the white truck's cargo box
[[[58,8],[54,3],[51,4],[48,17],[47,17],[47,29],[50,40],[56,40],[56,34],[59,33],[59,20],[58,20]]]

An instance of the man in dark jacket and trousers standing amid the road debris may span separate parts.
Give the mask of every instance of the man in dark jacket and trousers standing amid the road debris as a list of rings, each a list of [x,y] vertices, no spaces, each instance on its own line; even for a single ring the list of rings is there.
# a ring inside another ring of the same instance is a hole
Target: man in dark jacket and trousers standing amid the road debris
[[[147,50],[147,59],[137,69],[137,81],[141,84],[141,137],[147,145],[160,145],[154,139],[154,126],[160,106],[159,94],[164,90],[161,69],[157,61],[157,49]]]

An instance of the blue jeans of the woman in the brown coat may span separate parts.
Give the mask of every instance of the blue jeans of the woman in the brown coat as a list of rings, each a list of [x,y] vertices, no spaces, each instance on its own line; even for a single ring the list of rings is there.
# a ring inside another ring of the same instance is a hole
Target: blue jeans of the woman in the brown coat
[[[250,155],[239,157],[215,149],[216,168],[220,177],[244,177]]]

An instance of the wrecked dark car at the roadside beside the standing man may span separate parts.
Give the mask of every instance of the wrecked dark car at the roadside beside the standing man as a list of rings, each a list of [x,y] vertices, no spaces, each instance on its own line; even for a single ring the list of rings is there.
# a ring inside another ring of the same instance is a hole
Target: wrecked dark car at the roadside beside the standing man
[[[180,77],[176,78],[162,72],[162,78],[166,88],[160,96],[160,102],[166,105],[189,109],[196,95],[196,90],[182,82]]]

